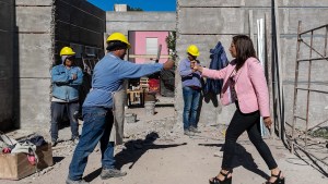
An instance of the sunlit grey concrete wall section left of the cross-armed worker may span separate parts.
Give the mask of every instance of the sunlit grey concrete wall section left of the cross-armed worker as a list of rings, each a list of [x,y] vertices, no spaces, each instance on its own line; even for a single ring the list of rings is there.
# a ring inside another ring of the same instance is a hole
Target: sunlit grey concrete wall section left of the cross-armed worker
[[[42,127],[48,125],[50,116],[52,0],[16,0],[15,11],[19,127]]]

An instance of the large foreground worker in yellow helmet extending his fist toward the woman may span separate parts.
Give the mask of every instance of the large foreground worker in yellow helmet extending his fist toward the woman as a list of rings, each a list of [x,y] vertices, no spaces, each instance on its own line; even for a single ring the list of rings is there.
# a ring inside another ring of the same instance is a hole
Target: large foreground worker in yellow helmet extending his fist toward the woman
[[[125,61],[130,44],[121,33],[113,33],[107,38],[108,53],[97,62],[92,76],[92,88],[82,106],[83,127],[80,142],[75,147],[69,168],[67,184],[86,183],[82,175],[89,155],[101,142],[102,173],[101,177],[109,179],[119,173],[110,169],[108,162],[109,134],[113,126],[113,109],[115,109],[113,96],[122,87],[126,78],[137,78],[161,70],[169,70],[174,62],[168,60],[164,64],[134,64]],[[109,156],[110,157],[110,156]]]

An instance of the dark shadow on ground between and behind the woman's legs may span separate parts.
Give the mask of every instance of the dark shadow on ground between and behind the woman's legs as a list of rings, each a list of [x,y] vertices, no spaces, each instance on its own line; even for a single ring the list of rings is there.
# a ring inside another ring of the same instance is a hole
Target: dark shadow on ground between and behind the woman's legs
[[[199,146],[209,146],[209,147],[221,147],[220,151],[223,151],[224,149],[224,144],[198,144]],[[223,155],[223,152],[222,152]],[[261,158],[259,158],[261,159]],[[269,179],[269,175],[259,170],[258,165],[254,162],[254,158],[247,150],[245,149],[244,146],[236,144],[236,150],[235,150],[235,157],[233,159],[233,168],[237,167],[244,167],[245,169],[260,175],[263,179]],[[219,171],[218,171],[219,172]]]

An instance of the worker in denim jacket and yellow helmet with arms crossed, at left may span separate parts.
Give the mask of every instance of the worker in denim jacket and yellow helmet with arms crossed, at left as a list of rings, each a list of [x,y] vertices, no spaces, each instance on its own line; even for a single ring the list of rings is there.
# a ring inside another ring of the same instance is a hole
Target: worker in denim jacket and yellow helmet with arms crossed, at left
[[[62,120],[67,110],[70,120],[72,136],[75,144],[79,142],[79,87],[82,85],[83,73],[79,66],[74,66],[75,52],[70,47],[60,50],[62,64],[51,70],[52,99],[51,99],[51,146],[56,146],[58,139],[58,123]]]

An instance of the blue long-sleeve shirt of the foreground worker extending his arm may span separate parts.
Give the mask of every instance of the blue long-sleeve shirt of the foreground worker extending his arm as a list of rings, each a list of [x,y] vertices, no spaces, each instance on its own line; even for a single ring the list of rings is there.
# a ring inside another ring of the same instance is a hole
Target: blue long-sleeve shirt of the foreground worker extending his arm
[[[138,78],[159,72],[163,64],[134,64],[121,60],[113,53],[106,54],[94,68],[92,89],[83,107],[113,107],[113,93],[120,89],[124,79]]]

